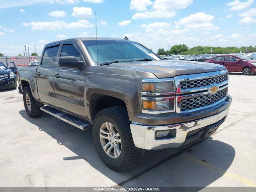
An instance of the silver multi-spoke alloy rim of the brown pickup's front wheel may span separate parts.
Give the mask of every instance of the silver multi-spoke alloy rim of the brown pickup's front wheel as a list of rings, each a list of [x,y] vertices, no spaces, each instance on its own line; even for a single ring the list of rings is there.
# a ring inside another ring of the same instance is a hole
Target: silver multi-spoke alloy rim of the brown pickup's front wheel
[[[121,138],[113,124],[105,122],[100,127],[100,143],[104,152],[111,158],[118,158],[121,154]]]

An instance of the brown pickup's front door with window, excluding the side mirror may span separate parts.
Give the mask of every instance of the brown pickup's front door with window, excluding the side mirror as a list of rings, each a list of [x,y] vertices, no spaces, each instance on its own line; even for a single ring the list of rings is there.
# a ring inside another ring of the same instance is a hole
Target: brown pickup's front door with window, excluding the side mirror
[[[62,44],[60,57],[75,56],[84,61],[74,42]],[[76,68],[59,67],[54,70],[56,105],[68,112],[86,117],[84,104],[85,73]]]

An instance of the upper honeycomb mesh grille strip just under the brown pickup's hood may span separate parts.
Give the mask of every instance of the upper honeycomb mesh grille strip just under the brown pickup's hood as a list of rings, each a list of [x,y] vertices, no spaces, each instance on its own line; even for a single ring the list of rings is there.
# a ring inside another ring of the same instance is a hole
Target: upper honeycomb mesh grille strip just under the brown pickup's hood
[[[185,90],[185,89],[205,87],[211,84],[219,84],[227,80],[228,80],[228,74],[222,74],[222,75],[217,75],[210,78],[202,78],[202,79],[196,79],[196,80],[185,80],[185,81],[180,81],[180,89]]]

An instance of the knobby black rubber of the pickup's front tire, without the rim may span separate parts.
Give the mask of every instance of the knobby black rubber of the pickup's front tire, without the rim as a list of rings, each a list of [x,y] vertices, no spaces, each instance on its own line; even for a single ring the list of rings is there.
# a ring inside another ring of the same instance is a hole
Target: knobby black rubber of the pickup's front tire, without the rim
[[[108,156],[100,142],[100,128],[106,122],[114,125],[114,128],[120,134],[122,149],[117,158]],[[104,164],[112,170],[118,172],[128,170],[140,163],[145,154],[145,150],[136,148],[134,145],[128,113],[124,107],[110,107],[98,112],[94,118],[92,136],[98,155]]]

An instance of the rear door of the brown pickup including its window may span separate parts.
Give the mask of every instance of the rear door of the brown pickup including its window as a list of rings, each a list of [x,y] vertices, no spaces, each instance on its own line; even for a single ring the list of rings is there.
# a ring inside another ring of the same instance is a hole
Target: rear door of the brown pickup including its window
[[[36,84],[38,96],[44,103],[55,106],[54,96],[54,69],[56,68],[59,45],[47,47],[44,49],[42,62],[36,70]]]

